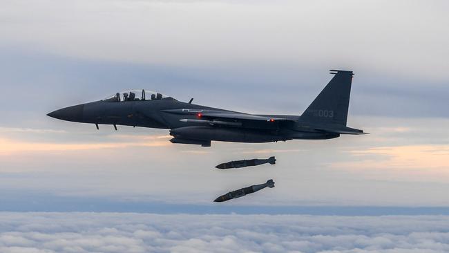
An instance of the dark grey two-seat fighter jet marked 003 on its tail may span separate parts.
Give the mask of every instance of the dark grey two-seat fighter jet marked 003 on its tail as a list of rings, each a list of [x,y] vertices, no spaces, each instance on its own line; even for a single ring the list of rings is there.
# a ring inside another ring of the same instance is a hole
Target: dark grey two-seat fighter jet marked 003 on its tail
[[[104,100],[69,106],[48,113],[59,120],[169,129],[173,143],[210,147],[211,141],[278,142],[326,140],[363,131],[346,126],[352,71],[334,75],[302,115],[256,115],[228,111],[147,90],[116,93]]]

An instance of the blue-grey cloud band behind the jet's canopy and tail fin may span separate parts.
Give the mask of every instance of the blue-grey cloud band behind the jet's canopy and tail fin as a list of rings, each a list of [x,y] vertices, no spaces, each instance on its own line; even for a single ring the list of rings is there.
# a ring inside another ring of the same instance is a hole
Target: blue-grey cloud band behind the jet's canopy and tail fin
[[[160,91],[182,101],[194,97],[198,104],[236,111],[299,115],[332,78],[329,66],[155,66],[55,57],[17,48],[0,48],[0,68],[2,91],[8,94],[0,101],[0,112],[10,119],[1,124],[26,122],[47,128],[42,119],[49,111],[128,88]],[[449,117],[443,109],[449,96],[447,82],[355,71],[350,118]]]

